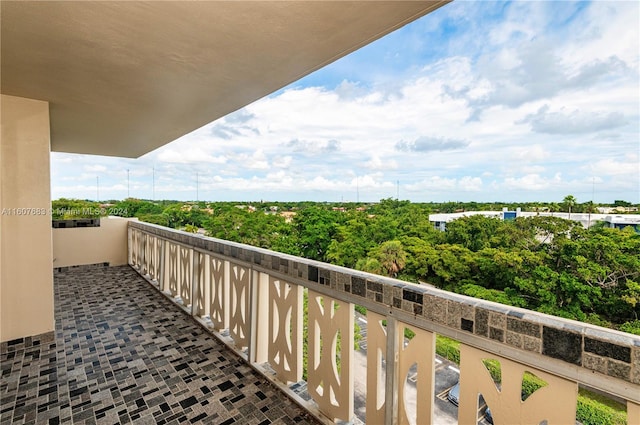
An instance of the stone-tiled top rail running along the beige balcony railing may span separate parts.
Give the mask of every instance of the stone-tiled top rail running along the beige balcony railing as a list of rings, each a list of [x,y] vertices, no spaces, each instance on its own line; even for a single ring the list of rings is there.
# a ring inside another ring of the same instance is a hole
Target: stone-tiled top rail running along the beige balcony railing
[[[129,226],[640,402],[640,337],[149,223]]]

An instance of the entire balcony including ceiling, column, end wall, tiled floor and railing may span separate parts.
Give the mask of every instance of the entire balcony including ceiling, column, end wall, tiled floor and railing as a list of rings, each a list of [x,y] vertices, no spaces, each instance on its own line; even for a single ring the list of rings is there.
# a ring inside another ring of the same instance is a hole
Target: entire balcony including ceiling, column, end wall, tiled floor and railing
[[[2,2],[0,422],[350,422],[357,383],[367,423],[422,425],[440,334],[461,423],[479,393],[496,423],[571,423],[578,386],[640,423],[638,337],[143,223],[51,229],[51,149],[140,156],[445,3]]]

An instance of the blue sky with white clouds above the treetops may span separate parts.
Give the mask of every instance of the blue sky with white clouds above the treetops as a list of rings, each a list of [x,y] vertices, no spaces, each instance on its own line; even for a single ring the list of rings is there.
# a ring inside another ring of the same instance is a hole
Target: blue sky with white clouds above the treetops
[[[52,198],[640,202],[640,2],[454,1]]]

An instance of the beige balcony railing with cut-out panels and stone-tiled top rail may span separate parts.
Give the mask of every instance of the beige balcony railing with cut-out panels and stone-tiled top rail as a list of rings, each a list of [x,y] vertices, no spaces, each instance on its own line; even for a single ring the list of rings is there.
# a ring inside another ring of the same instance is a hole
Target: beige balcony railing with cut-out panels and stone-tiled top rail
[[[640,423],[639,337],[147,223],[130,222],[128,238],[131,266],[294,398],[307,314],[311,401],[297,401],[323,420],[354,418],[354,306],[361,305],[367,423],[434,422],[436,334],[461,342],[460,423],[477,422],[478,394],[496,424],[574,423],[579,386],[626,400],[627,422]],[[410,341],[405,329],[415,333]],[[499,364],[498,386],[488,359]],[[410,412],[404,388],[412,367]],[[545,385],[522,401],[525,373]]]

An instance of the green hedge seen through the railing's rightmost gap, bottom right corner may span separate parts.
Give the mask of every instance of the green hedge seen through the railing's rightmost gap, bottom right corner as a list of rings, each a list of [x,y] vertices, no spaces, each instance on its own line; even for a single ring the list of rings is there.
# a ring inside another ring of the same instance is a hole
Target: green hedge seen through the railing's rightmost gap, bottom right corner
[[[624,405],[591,391],[580,389],[576,420],[583,425],[626,425]]]

